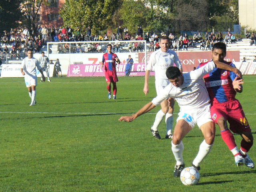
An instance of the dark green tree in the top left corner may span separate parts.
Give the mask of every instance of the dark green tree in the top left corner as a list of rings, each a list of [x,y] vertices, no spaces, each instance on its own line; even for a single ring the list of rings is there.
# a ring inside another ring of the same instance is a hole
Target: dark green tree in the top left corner
[[[0,1],[0,29],[2,31],[17,27],[21,16],[20,0]]]

